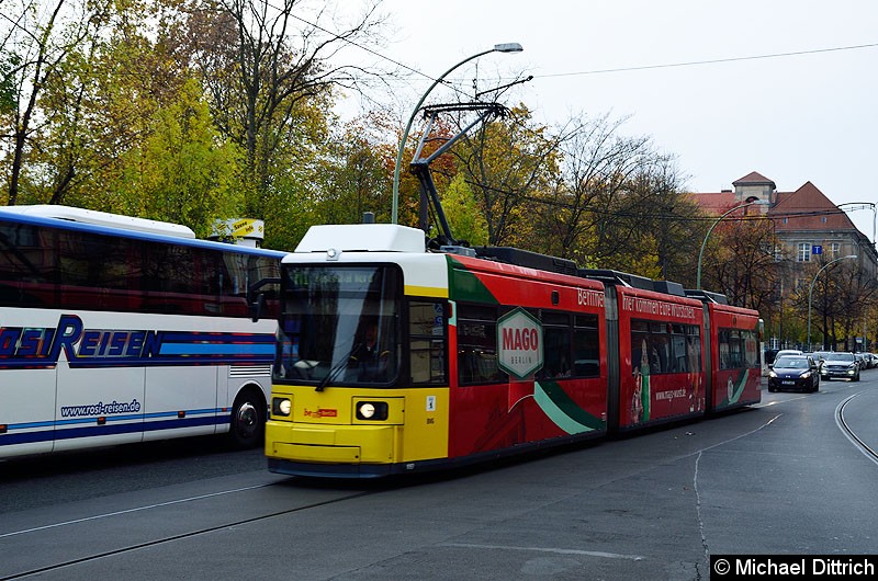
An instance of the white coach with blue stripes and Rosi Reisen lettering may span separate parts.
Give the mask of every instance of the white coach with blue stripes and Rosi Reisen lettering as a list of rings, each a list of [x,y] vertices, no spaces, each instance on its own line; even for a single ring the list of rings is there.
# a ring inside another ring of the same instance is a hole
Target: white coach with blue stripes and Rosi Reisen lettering
[[[0,458],[213,433],[261,444],[283,255],[0,208]]]

